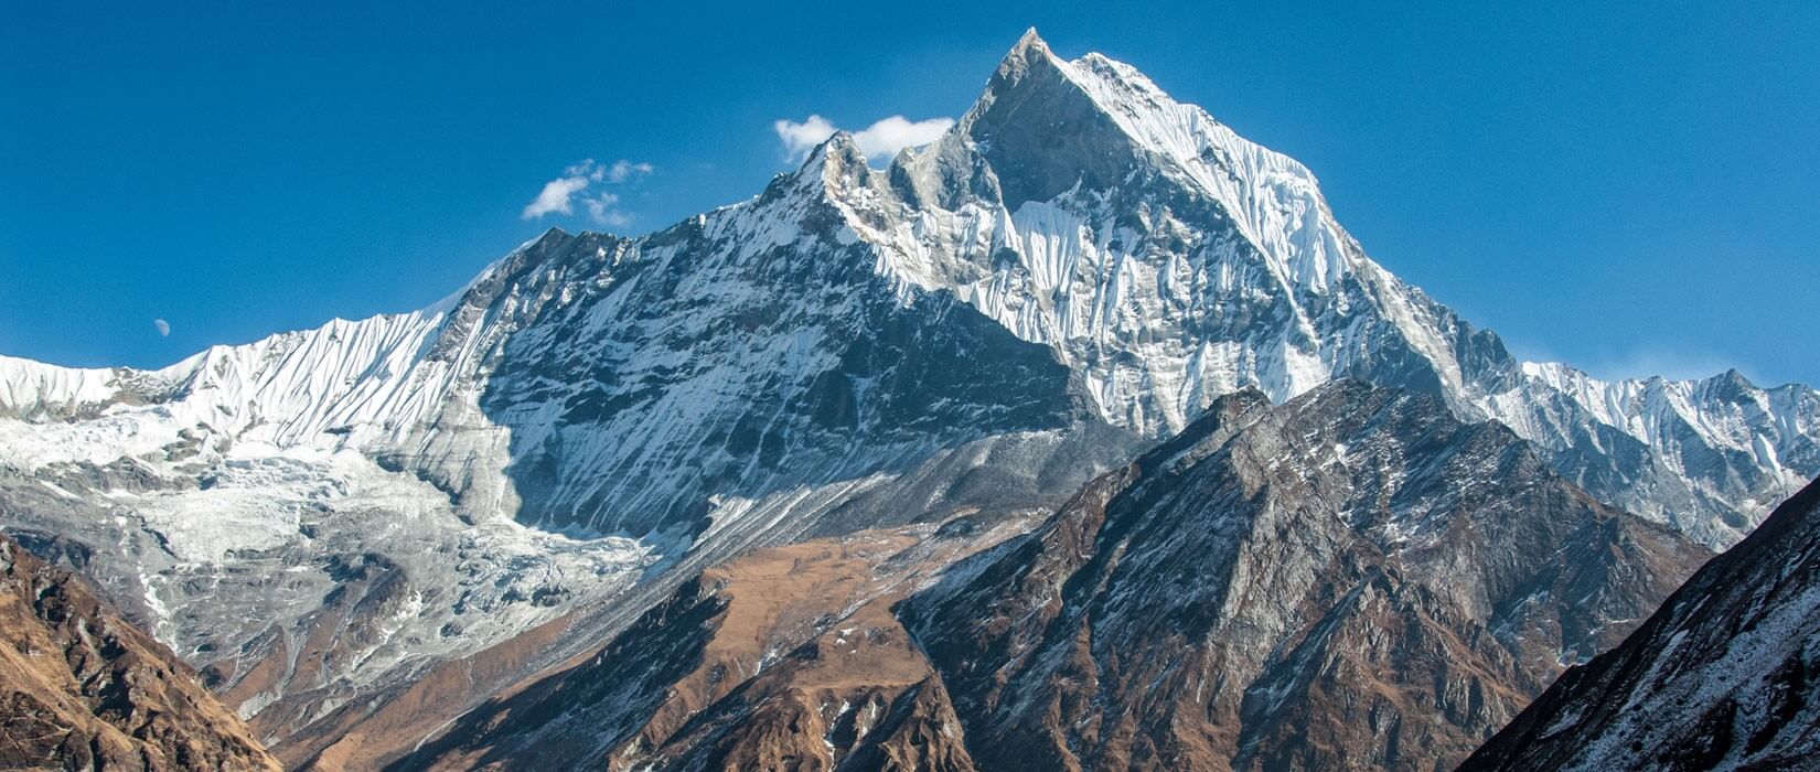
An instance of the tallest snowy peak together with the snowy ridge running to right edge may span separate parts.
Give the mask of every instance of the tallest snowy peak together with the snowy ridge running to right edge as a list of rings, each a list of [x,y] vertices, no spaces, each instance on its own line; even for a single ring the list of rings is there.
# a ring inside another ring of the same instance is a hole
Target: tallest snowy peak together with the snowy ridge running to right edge
[[[1117,426],[1176,432],[1245,386],[1285,401],[1389,382],[1503,421],[1609,501],[1714,544],[1820,466],[1813,390],[1518,362],[1369,259],[1303,164],[1034,33],[888,177],[834,191],[879,271],[1052,346]]]

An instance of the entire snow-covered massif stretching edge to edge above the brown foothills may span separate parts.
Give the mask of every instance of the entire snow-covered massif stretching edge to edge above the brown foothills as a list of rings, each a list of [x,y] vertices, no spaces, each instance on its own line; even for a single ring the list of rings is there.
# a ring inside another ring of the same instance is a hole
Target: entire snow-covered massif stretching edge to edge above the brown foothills
[[[885,169],[835,133],[655,233],[548,229],[426,310],[158,371],[0,357],[0,524],[93,548],[198,663],[295,659],[260,635],[339,625],[313,599],[379,555],[371,577],[406,577],[373,584],[382,665],[335,659],[244,706],[304,710],[657,561],[1048,506],[1221,395],[1334,379],[1502,421],[1709,544],[1820,472],[1811,388],[1525,366],[1367,259],[1307,168],[1030,33]]]

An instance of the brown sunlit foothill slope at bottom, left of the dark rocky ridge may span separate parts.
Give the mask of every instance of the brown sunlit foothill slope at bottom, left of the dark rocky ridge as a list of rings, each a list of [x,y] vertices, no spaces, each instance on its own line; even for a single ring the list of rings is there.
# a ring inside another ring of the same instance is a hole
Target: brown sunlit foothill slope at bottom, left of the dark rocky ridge
[[[393,768],[972,770],[946,688],[892,606],[1017,530],[959,517],[735,559]]]

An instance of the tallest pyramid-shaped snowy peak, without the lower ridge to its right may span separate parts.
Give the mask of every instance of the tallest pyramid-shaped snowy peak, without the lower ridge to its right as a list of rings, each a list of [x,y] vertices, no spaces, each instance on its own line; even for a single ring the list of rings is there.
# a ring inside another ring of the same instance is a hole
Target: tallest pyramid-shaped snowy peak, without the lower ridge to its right
[[[1372,308],[1390,330],[1369,335],[1463,391],[1427,300],[1363,257],[1307,168],[1107,56],[1026,36],[888,177],[835,193],[881,271],[1088,368],[1114,424],[1165,433],[1239,386],[1281,401],[1356,375],[1363,331],[1338,328]]]

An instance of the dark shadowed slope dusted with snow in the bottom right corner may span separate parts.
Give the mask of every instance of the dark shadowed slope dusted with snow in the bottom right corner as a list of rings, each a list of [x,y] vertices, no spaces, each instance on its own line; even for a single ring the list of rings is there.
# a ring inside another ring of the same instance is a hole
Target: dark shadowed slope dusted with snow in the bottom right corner
[[[1461,770],[1820,768],[1820,481]]]

